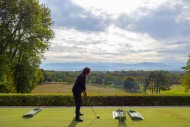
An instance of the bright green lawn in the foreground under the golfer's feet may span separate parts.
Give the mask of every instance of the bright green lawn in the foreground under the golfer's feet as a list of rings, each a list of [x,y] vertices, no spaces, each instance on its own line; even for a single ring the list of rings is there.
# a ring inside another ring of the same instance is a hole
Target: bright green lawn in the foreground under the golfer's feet
[[[42,108],[42,111],[30,119],[22,115],[32,108],[0,108],[1,127],[118,127],[118,120],[112,118],[115,107],[94,107],[100,119],[96,119],[90,107],[82,107],[84,122],[74,121],[73,107]],[[136,110],[145,118],[132,121],[127,114],[124,127],[189,127],[190,107],[126,107]]]

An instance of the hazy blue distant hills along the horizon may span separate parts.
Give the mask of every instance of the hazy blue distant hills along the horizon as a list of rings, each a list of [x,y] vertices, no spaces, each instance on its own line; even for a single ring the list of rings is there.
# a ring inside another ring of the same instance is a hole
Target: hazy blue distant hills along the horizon
[[[164,63],[142,62],[136,64],[124,63],[80,63],[80,62],[65,62],[65,63],[44,63],[40,66],[44,70],[55,71],[79,71],[84,67],[90,67],[93,71],[121,71],[121,70],[167,70],[167,71],[182,71],[181,66],[168,65]]]

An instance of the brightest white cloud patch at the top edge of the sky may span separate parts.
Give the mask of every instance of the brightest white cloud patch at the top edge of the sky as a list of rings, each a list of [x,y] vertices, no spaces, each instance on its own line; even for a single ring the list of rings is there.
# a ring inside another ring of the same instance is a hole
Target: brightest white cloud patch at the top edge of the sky
[[[131,14],[138,8],[155,8],[169,0],[73,0],[83,8],[100,15],[101,12],[108,14]]]

